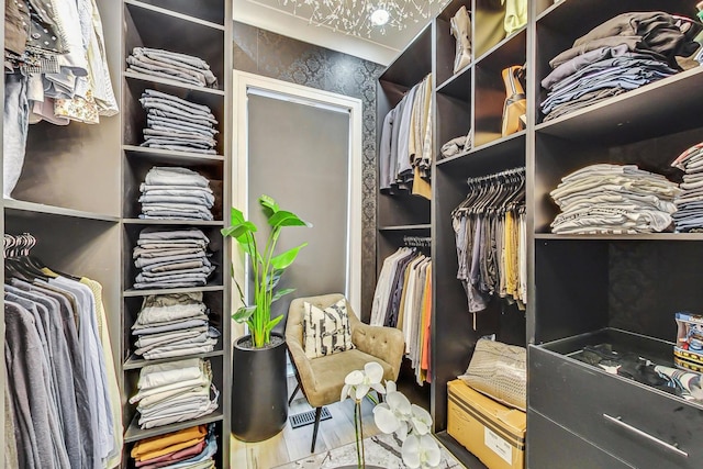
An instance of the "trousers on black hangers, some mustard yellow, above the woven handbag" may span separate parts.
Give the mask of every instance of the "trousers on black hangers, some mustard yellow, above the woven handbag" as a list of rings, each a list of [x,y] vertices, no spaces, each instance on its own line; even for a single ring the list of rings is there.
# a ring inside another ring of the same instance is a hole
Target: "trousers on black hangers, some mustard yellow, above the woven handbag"
[[[495,295],[527,301],[525,169],[470,178],[467,198],[451,212],[458,271],[468,310],[488,308]]]

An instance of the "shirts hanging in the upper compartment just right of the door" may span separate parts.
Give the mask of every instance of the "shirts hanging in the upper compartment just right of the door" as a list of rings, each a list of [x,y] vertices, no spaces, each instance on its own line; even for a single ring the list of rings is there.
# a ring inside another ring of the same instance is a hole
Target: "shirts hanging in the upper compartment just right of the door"
[[[434,160],[432,74],[412,87],[383,119],[379,152],[382,193],[432,198]]]

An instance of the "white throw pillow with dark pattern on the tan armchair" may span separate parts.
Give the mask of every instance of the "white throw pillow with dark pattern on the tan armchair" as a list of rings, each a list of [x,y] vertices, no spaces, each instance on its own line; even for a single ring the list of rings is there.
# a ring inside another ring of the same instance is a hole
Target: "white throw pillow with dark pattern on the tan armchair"
[[[303,338],[308,358],[356,348],[352,344],[352,328],[344,298],[324,310],[308,302],[304,302],[303,306]]]

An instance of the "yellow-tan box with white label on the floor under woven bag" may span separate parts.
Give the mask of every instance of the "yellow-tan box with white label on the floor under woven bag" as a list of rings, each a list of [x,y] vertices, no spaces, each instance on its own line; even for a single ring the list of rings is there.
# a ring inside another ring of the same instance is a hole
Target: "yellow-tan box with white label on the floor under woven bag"
[[[523,469],[526,414],[493,401],[461,380],[450,381],[447,388],[447,433],[489,469]]]

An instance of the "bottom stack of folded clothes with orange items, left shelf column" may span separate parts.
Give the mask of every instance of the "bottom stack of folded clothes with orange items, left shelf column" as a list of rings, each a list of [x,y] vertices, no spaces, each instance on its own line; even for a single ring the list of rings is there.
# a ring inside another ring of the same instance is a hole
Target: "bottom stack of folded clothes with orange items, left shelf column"
[[[214,424],[191,426],[137,442],[131,456],[142,469],[211,469],[217,453]]]

